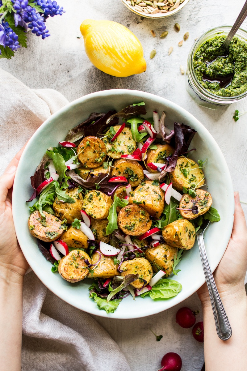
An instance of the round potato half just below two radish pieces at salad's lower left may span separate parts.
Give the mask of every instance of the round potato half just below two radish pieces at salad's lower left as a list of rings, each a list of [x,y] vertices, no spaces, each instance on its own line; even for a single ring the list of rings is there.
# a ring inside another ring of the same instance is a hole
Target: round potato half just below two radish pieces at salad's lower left
[[[58,266],[59,274],[68,282],[75,283],[83,280],[88,274],[87,263],[91,262],[89,255],[83,250],[72,250],[64,256]]]

